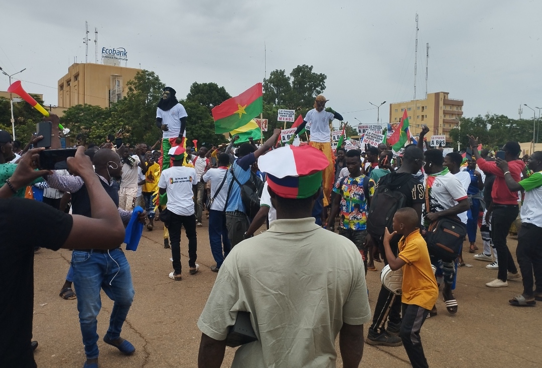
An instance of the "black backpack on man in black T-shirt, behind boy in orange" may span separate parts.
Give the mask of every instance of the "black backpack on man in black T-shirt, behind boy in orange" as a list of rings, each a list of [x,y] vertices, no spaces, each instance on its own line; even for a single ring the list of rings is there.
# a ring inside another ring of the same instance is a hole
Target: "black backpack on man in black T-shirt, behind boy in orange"
[[[399,208],[403,208],[405,204],[406,196],[403,193],[380,181],[369,206],[367,233],[375,239],[384,236],[386,227],[391,233],[393,231],[393,215]]]

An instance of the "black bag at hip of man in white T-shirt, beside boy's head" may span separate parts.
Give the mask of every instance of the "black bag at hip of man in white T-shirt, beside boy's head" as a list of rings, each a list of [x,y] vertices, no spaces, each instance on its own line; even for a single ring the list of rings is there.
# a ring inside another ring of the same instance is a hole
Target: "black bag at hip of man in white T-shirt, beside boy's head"
[[[445,216],[431,222],[425,242],[430,255],[451,262],[461,253],[465,236],[467,226],[457,216]]]

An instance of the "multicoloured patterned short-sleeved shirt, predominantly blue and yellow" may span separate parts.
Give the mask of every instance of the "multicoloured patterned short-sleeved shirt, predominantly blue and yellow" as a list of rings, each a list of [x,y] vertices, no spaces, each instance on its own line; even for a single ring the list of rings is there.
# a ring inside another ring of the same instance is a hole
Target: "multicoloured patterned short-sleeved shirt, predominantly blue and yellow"
[[[367,223],[367,198],[363,189],[365,175],[341,178],[335,182],[333,192],[341,196],[340,227],[364,231]]]

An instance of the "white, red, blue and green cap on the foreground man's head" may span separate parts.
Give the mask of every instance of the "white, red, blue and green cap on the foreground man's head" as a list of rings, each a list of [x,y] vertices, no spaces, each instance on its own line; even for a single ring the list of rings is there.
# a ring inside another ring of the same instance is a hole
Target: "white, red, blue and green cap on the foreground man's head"
[[[308,198],[322,185],[322,172],[330,165],[326,155],[312,146],[286,146],[260,156],[258,167],[267,185],[283,198]]]

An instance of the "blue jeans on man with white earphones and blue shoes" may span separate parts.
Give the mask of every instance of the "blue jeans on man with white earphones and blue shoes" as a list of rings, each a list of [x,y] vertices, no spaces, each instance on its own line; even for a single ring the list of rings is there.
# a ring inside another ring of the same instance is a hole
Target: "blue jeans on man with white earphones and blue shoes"
[[[72,266],[85,354],[87,359],[98,358],[96,317],[101,309],[100,289],[115,302],[107,330],[107,337],[115,340],[120,337],[122,324],[134,297],[130,265],[122,249],[117,248],[109,251],[109,254],[92,249],[88,252],[74,250]]]

